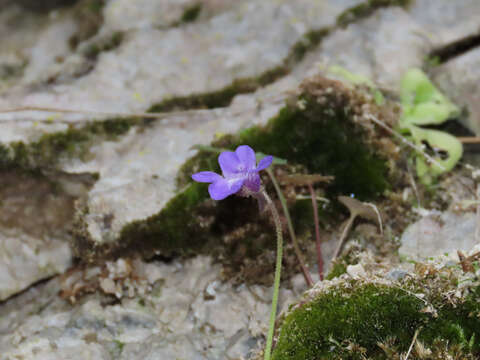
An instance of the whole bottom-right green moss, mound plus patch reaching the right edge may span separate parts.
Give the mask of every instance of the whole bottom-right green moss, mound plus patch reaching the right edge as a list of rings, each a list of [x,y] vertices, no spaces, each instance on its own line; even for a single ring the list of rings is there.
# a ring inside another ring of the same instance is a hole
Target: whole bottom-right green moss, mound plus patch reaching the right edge
[[[386,359],[379,344],[388,343],[397,354],[406,352],[416,330],[427,347],[470,344],[473,354],[479,355],[480,345],[470,341],[480,333],[479,300],[477,293],[456,306],[445,302],[435,317],[423,311],[425,303],[408,291],[353,282],[330,289],[287,315],[273,359]]]

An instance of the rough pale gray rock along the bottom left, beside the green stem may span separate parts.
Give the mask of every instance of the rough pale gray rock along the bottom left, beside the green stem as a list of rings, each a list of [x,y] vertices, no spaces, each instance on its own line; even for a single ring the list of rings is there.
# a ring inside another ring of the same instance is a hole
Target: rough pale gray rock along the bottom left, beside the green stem
[[[115,264],[107,267],[106,279],[120,277]],[[270,289],[222,283],[207,257],[137,260],[130,271],[135,278],[123,287],[135,296],[120,295],[114,305],[99,289],[72,306],[58,297],[56,279],[4,303],[2,359],[240,359],[265,333]],[[282,291],[283,309],[301,291]]]

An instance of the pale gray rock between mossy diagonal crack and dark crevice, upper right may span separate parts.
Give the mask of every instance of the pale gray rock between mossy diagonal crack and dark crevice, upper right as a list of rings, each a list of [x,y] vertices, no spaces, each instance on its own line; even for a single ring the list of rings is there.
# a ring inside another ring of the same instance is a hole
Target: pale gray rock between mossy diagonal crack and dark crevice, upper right
[[[405,72],[422,67],[433,49],[477,33],[474,14],[478,13],[480,3],[475,0],[417,0],[407,9],[377,10],[332,32],[294,69],[295,77],[318,72],[335,76],[330,67],[341,66],[381,87],[397,90]],[[467,71],[474,69],[469,66]]]

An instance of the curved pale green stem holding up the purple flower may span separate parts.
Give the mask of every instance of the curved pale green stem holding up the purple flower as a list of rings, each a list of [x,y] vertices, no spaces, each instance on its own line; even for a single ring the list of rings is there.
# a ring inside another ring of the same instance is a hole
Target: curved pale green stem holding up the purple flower
[[[265,190],[262,191],[262,195],[267,202],[267,206],[270,209],[273,221],[275,222],[275,229],[277,232],[277,261],[275,263],[275,279],[273,281],[273,298],[272,309],[270,311],[270,322],[268,325],[267,345],[265,347],[264,360],[270,360],[273,345],[273,333],[275,331],[275,318],[277,317],[277,304],[278,304],[278,292],[280,289],[280,275],[282,271],[282,253],[283,253],[283,236],[282,236],[282,224],[280,222],[280,216],[272,202],[272,199],[268,196]]]

